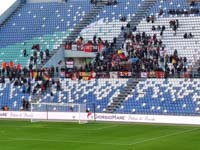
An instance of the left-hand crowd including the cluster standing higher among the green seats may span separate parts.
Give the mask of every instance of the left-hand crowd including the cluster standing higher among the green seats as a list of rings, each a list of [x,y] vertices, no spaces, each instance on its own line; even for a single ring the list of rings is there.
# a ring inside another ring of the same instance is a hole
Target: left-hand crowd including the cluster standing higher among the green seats
[[[23,50],[23,56],[30,58],[30,64],[28,67],[22,67],[21,64],[14,64],[13,61],[2,62],[2,67],[0,69],[0,82],[2,86],[6,83],[6,78],[13,86],[21,86],[23,93],[28,93],[31,95],[43,94],[49,92],[51,95],[52,87],[57,90],[61,89],[61,84],[59,81],[55,81],[54,77],[59,77],[59,68],[38,68],[37,64],[42,64],[44,59],[49,57],[49,50],[46,49],[43,52],[40,49],[40,45],[36,44],[32,47],[32,54],[28,55],[27,50]],[[45,57],[44,57],[45,56]],[[27,110],[29,108],[29,103],[27,100],[22,100],[22,110]]]

